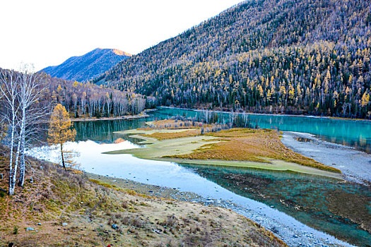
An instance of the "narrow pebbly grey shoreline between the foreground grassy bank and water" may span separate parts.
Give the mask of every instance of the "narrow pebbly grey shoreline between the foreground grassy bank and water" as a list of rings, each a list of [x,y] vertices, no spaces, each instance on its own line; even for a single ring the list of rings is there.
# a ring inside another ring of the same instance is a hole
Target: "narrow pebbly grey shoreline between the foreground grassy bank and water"
[[[89,179],[97,179],[113,186],[129,188],[143,195],[199,203],[209,207],[223,207],[232,210],[272,231],[273,234],[282,239],[288,246],[302,246],[303,244],[304,246],[353,246],[346,241],[337,239],[335,236],[326,234],[324,231],[308,227],[306,224],[298,222],[284,212],[269,207],[269,205],[262,205],[261,203],[247,203],[245,205],[245,203],[240,203],[238,200],[205,198],[193,192],[181,191],[179,188],[157,186],[130,179],[120,179],[114,176],[104,176],[88,172],[86,172],[86,175]],[[237,195],[237,198],[242,198],[242,196]],[[247,200],[250,201],[248,198]]]

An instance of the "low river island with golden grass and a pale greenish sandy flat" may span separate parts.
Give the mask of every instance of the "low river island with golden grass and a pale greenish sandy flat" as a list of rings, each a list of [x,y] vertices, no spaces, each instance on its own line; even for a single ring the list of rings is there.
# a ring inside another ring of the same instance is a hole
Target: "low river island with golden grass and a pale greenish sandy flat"
[[[332,173],[341,173],[334,167],[326,166],[285,147],[281,143],[281,135],[275,130],[232,128],[201,135],[199,123],[196,123],[195,126],[179,129],[175,128],[175,125],[174,120],[161,121],[160,124],[154,121],[148,124],[148,126],[152,126],[151,128],[119,132],[143,139],[141,144],[146,144],[146,147],[117,150],[107,152],[107,154],[129,153],[143,159],[276,170],[287,169],[335,177],[337,176]],[[164,126],[164,128],[159,126]],[[211,127],[204,126],[204,129]],[[309,168],[329,171],[331,174]]]

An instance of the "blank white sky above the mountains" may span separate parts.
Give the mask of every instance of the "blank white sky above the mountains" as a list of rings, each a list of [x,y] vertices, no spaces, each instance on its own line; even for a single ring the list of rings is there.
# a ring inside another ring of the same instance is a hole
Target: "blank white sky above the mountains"
[[[137,54],[242,0],[0,0],[0,67],[38,71],[95,48]]]

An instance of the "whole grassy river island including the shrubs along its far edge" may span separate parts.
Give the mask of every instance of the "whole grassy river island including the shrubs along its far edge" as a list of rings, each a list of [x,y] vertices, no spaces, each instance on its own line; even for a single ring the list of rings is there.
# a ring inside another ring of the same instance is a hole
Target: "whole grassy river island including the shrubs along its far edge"
[[[179,159],[178,162],[185,159],[190,162],[220,160],[270,164],[273,159],[341,173],[334,167],[326,166],[285,147],[281,143],[280,133],[276,130],[228,128],[220,124],[204,125],[204,123],[197,121],[167,119],[149,122],[148,128],[122,131],[121,133],[146,139],[143,144],[148,143],[148,145],[143,152],[141,149],[122,151],[133,153],[139,157]],[[246,166],[249,167],[249,164]]]

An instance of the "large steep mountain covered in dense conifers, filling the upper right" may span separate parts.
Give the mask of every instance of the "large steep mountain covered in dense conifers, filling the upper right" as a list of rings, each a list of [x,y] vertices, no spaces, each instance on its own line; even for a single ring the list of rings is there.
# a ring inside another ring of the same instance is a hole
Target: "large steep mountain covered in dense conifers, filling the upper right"
[[[180,107],[371,118],[369,0],[251,0],[93,80]]]

